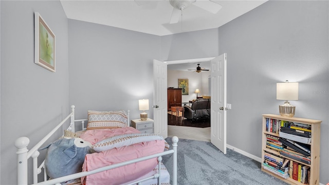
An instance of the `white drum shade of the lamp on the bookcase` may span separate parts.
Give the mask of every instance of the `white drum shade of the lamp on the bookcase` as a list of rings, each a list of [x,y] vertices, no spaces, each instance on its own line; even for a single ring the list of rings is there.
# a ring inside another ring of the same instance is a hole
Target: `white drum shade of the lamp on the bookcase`
[[[298,82],[277,83],[277,100],[298,100]]]

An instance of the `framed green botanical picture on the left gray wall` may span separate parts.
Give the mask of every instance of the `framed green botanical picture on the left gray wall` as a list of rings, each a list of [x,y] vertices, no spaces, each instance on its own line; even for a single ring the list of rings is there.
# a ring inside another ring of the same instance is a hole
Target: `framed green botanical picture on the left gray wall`
[[[34,12],[34,63],[55,72],[55,34]]]

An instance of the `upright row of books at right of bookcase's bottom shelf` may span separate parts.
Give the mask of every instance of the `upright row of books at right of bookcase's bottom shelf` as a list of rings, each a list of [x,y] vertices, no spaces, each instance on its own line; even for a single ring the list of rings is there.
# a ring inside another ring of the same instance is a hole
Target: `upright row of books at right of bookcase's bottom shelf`
[[[289,177],[304,184],[309,184],[310,167],[290,160]]]

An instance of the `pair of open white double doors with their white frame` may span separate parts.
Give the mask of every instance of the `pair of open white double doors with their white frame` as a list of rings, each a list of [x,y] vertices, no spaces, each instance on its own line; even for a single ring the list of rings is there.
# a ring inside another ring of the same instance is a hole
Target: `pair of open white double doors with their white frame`
[[[167,62],[153,60],[154,133],[168,137],[167,65],[198,61],[211,63],[211,143],[226,154],[226,53],[207,59]]]

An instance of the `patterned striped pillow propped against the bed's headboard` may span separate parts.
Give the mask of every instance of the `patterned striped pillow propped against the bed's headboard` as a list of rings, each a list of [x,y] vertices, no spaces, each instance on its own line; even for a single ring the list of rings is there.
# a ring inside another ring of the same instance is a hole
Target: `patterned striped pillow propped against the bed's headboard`
[[[128,117],[126,116],[124,110],[109,112],[88,110],[87,130],[126,127],[128,126],[127,122]]]

